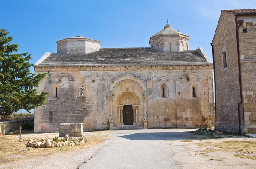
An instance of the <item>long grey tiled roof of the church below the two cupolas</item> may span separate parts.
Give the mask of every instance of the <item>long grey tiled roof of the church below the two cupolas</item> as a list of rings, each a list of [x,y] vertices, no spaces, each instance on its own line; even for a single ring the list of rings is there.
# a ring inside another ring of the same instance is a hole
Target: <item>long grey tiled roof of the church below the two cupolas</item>
[[[199,49],[199,48],[198,48]],[[197,49],[197,51],[198,51]],[[200,49],[202,50],[202,49]],[[207,57],[207,56],[206,56]],[[36,65],[202,65],[212,64],[195,50],[158,52],[151,48],[101,48],[87,54],[52,53]]]

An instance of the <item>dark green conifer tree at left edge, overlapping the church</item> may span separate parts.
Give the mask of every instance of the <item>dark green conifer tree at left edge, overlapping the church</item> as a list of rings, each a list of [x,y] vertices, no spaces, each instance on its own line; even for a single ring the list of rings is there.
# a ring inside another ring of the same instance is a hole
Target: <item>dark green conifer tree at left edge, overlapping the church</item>
[[[38,92],[40,80],[46,74],[32,74],[29,53],[18,54],[18,44],[12,43],[5,29],[0,29],[0,119],[19,109],[31,110],[46,101],[47,92]]]

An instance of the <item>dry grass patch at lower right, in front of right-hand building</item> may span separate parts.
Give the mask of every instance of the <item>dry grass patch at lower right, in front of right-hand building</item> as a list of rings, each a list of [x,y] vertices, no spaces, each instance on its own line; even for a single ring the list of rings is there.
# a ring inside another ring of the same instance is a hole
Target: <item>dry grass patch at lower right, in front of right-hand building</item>
[[[256,152],[256,141],[223,141],[221,143],[194,143],[199,148],[206,148],[205,150],[199,151],[199,153],[209,152],[236,152],[237,149],[241,149],[246,152]],[[256,160],[256,153],[253,154],[234,154],[238,158],[248,158]]]

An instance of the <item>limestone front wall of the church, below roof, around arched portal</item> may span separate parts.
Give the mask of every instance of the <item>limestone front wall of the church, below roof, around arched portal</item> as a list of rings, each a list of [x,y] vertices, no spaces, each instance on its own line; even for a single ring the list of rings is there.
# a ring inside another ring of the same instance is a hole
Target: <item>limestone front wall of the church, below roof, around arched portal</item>
[[[120,104],[130,100],[135,100],[129,103],[134,113],[137,109],[134,125],[143,126],[144,111],[149,128],[214,124],[214,112],[210,109],[212,65],[35,67],[36,73],[48,70],[38,89],[51,95],[43,106],[35,109],[35,132],[57,132],[60,123],[83,123],[84,130],[108,129],[111,102],[114,126],[118,126],[118,111],[123,106]],[[167,98],[161,97],[162,84],[167,86]],[[79,86],[85,88],[83,97],[79,96]],[[55,97],[56,87],[58,97]],[[198,89],[195,98],[192,87]],[[123,100],[127,93],[128,100]]]

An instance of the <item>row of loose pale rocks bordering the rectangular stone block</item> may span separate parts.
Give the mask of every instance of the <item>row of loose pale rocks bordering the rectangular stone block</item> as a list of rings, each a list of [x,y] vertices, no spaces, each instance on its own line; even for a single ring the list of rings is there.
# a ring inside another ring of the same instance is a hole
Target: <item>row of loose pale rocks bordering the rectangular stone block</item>
[[[61,140],[61,141],[59,141],[59,140]],[[31,138],[27,143],[27,147],[34,147],[34,148],[50,148],[50,147],[52,147],[52,148],[54,148],[54,147],[61,147],[61,146],[75,146],[75,145],[79,145],[79,144],[84,144],[86,142],[87,142],[87,137],[85,135],[82,135],[82,137],[79,137],[79,138],[70,138],[69,135],[65,135],[65,137],[63,139],[59,138],[57,143],[48,138],[46,138],[46,139],[41,138],[38,140]]]

